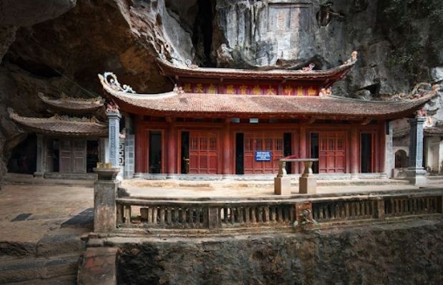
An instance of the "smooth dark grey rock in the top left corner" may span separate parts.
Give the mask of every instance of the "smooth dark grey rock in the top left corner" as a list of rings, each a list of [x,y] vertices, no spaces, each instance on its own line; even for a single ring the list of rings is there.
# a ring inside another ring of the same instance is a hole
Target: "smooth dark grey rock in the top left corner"
[[[66,13],[76,0],[1,0],[0,25],[31,26]]]

